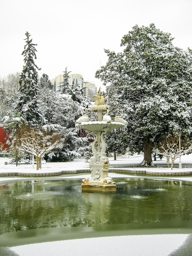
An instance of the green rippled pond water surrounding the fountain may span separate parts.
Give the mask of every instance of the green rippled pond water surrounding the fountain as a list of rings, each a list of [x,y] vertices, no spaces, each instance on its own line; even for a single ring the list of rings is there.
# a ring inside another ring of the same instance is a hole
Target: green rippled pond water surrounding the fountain
[[[192,184],[116,180],[117,191],[81,192],[71,180],[0,187],[0,246],[125,234],[192,233]]]

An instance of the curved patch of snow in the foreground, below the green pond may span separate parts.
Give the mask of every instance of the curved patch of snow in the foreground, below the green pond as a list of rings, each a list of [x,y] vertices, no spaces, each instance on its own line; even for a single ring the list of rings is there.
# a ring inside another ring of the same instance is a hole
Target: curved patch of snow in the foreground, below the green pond
[[[19,256],[168,256],[187,238],[188,234],[111,236],[22,245],[11,250]]]

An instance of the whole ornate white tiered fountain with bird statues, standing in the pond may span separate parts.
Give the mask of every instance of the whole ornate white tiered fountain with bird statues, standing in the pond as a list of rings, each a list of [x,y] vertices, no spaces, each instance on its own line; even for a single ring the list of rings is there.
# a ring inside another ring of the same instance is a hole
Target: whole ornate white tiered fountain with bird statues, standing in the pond
[[[104,136],[115,130],[116,128],[125,128],[127,121],[120,116],[115,117],[114,121],[108,115],[109,110],[105,105],[105,100],[108,98],[100,96],[100,89],[98,95],[92,97],[92,101],[95,101],[95,105],[91,107],[91,111],[97,112],[98,121],[89,121],[89,117],[82,113],[76,121],[76,128],[78,130],[83,129],[91,135],[95,135],[95,140],[92,143],[92,157],[89,159],[89,166],[91,171],[91,177],[83,179],[81,185],[82,190],[101,190],[101,191],[116,191],[116,184],[109,177],[109,159],[106,154],[107,143]],[[105,115],[103,116],[103,112]],[[87,112],[86,112],[87,113]]]

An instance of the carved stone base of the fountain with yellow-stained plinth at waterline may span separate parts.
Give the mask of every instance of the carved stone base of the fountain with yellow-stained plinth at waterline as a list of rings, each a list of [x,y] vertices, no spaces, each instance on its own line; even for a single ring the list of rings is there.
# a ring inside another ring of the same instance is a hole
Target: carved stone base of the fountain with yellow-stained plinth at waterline
[[[90,164],[91,177],[83,179],[82,190],[116,191],[116,183],[108,176],[109,162]]]

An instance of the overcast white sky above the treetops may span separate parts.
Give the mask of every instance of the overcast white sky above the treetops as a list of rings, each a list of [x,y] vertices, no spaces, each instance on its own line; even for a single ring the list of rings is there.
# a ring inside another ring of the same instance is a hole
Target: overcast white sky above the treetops
[[[136,24],[171,33],[174,45],[192,48],[192,0],[0,0],[0,77],[21,72],[25,32],[38,44],[39,76],[71,73],[96,83],[104,49],[121,51]]]

